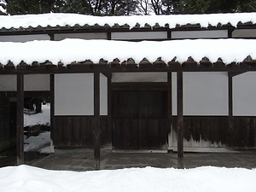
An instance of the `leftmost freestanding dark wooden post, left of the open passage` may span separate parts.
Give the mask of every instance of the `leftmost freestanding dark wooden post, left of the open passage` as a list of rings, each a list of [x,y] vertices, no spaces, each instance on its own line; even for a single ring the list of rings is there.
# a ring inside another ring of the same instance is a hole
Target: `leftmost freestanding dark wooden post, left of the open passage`
[[[24,74],[17,74],[17,166],[24,164]]]

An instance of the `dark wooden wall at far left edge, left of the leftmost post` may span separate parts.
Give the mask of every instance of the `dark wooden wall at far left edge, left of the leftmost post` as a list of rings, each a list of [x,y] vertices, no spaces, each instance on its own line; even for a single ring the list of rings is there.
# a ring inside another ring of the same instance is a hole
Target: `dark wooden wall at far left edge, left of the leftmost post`
[[[11,135],[9,128],[9,99],[0,98],[0,151],[9,148]]]

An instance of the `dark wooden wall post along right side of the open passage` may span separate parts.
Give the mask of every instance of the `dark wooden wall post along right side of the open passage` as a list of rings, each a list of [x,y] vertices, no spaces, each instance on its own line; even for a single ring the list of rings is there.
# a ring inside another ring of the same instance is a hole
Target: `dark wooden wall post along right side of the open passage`
[[[50,138],[53,141],[55,136],[55,75],[49,75],[49,92],[50,92]]]

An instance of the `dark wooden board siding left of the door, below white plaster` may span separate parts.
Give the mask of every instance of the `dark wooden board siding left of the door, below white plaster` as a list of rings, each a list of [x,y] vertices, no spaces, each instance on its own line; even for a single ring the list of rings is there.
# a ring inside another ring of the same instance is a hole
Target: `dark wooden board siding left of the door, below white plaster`
[[[111,143],[111,131],[108,128],[108,117],[101,116],[101,144]],[[55,116],[53,143],[58,147],[94,146],[93,116]]]

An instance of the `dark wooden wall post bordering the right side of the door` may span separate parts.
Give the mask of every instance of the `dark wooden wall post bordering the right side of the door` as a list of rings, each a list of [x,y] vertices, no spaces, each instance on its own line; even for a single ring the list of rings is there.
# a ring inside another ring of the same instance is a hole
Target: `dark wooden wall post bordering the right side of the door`
[[[167,108],[167,111],[168,111],[168,135],[171,134],[171,131],[172,131],[172,72],[169,72],[167,73],[167,81],[168,81],[168,93],[167,93],[167,102],[168,102],[168,108]],[[169,137],[169,136],[168,136]],[[168,140],[169,142],[170,139]],[[169,146],[172,144],[172,143],[168,143]]]

